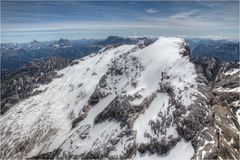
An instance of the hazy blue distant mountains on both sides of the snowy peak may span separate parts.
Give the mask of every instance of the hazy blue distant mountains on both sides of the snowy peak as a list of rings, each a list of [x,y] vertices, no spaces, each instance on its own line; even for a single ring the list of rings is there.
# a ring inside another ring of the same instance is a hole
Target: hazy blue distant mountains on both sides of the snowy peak
[[[59,56],[70,60],[84,57],[97,52],[107,45],[122,44],[151,44],[155,38],[123,38],[109,36],[106,39],[81,39],[39,42],[33,40],[29,43],[4,43],[1,44],[1,74],[4,77],[19,67],[30,64],[34,60]],[[218,57],[223,61],[239,60],[239,43],[229,40],[187,39],[191,49],[191,56]]]

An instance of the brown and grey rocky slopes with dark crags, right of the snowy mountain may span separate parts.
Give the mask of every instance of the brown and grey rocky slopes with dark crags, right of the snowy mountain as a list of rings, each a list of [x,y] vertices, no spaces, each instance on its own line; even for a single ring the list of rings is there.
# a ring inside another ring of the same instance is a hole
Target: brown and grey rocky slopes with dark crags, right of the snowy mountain
[[[213,124],[217,149],[210,159],[239,159],[239,63],[220,62],[216,58],[195,59],[212,86]],[[215,67],[214,67],[215,66]],[[205,73],[204,73],[205,72]]]

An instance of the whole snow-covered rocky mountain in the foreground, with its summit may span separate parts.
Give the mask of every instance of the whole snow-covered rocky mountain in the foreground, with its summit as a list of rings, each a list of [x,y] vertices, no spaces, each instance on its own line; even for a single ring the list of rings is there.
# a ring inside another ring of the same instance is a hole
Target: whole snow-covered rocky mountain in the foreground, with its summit
[[[209,98],[186,43],[143,47],[104,48],[39,86],[1,117],[0,158],[138,159],[185,147],[194,152],[183,159],[213,157]]]

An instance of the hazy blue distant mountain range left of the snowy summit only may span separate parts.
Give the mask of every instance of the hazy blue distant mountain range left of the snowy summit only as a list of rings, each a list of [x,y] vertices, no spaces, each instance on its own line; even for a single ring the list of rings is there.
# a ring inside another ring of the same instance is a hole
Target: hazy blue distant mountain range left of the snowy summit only
[[[1,73],[12,72],[17,68],[29,64],[34,60],[59,56],[70,60],[78,59],[90,53],[97,52],[107,45],[137,44],[146,41],[152,43],[154,39],[147,38],[122,38],[109,36],[103,40],[81,39],[39,42],[33,40],[29,43],[4,43],[1,44]]]

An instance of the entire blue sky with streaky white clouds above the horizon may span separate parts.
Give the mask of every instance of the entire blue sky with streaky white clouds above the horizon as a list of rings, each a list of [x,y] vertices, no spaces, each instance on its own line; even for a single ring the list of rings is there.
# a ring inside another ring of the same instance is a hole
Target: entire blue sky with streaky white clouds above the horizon
[[[239,1],[1,1],[1,42],[239,38]]]

